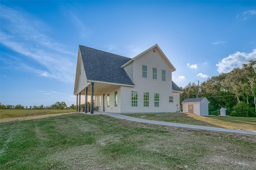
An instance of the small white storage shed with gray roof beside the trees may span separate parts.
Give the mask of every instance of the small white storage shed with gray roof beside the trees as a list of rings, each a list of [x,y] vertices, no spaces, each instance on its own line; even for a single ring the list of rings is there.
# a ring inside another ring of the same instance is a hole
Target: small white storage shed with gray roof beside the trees
[[[200,116],[208,116],[208,104],[206,97],[190,98],[182,101],[183,112],[190,112]]]

